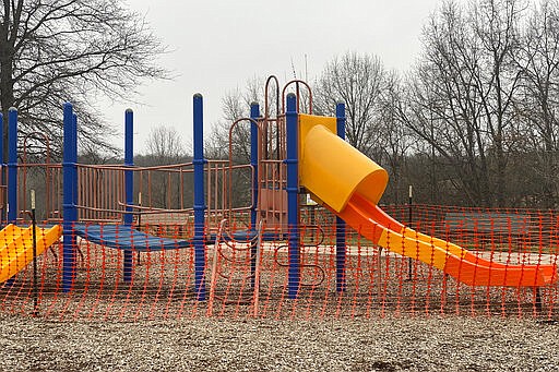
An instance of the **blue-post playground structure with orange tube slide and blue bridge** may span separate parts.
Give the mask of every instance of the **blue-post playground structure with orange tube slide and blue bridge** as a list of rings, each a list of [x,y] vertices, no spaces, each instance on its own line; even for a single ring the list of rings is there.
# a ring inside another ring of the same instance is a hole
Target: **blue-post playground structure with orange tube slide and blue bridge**
[[[274,83],[277,97],[275,109],[269,103],[269,93]],[[295,93],[287,94],[294,86]],[[308,89],[306,113],[300,112],[304,110],[304,99],[299,94],[301,86]],[[50,230],[40,230],[44,233],[39,239],[44,245],[40,251],[53,244],[63,231],[60,287],[66,292],[76,288],[76,252],[83,244],[121,251],[118,264],[122,274],[119,280],[124,284],[134,281],[138,271],[134,254],[188,250],[192,252],[192,261],[185,269],[191,268],[193,272],[192,291],[198,301],[206,300],[210,293],[212,307],[219,279],[216,271],[225,267],[218,262],[218,251],[245,244],[233,255],[235,259],[241,256],[238,252],[246,253],[239,262],[248,266],[249,275],[242,280],[252,290],[250,298],[254,314],[259,307],[260,275],[267,254],[264,247],[266,241],[276,243],[274,249],[269,249],[274,256],[278,255],[280,249],[287,248],[285,288],[288,298],[297,299],[300,296],[305,287],[301,277],[306,267],[313,267],[317,273],[321,269],[316,263],[304,262],[304,241],[311,229],[301,223],[301,195],[307,193],[331,213],[326,218],[335,217],[333,229],[329,232],[335,237],[335,241],[331,243],[332,250],[325,250],[324,254],[334,259],[333,280],[338,293],[348,290],[347,260],[354,254],[350,252],[352,243],[347,241],[350,235],[347,227],[366,238],[370,245],[382,247],[397,256],[425,263],[429,269],[441,271],[444,274],[441,280],[447,280],[447,275],[450,275],[457,283],[487,288],[546,288],[557,283],[556,261],[515,263],[493,260],[492,256],[486,259],[447,240],[415,231],[385,214],[378,203],[386,187],[386,171],[344,141],[343,104],[336,106],[334,118],[312,115],[312,94],[305,82],[289,82],[280,92],[277,80],[272,76],[265,86],[264,112],[261,115],[257,104],[251,106],[250,112],[250,118],[237,120],[230,129],[233,135],[235,130],[248,123],[250,164],[236,164],[231,148],[227,159],[204,157],[203,101],[201,95],[194,95],[192,163],[138,167],[133,163],[131,110],[124,115],[123,166],[78,163],[78,118],[70,104],[63,107],[62,163],[17,164],[17,117],[16,111],[11,110],[8,184],[1,189],[8,196],[5,220],[9,224],[25,220],[21,212],[26,211],[25,195],[31,188],[26,175],[33,169],[40,169],[46,180],[43,199],[48,201],[44,219],[47,224],[55,224]],[[159,178],[165,181],[162,184],[167,191],[162,202],[165,205],[156,205],[155,190],[152,188]],[[234,201],[236,190],[233,184],[236,181],[242,184],[242,180],[246,181],[245,192],[250,194],[250,197],[246,197],[246,204]],[[175,207],[171,208],[173,204]],[[160,236],[153,225],[142,227],[142,220],[144,224],[146,220],[157,221],[158,216],[176,216],[176,225],[181,226],[180,233],[167,238]],[[224,231],[225,219],[230,226],[243,225],[243,228]],[[28,243],[25,239],[21,242],[17,240],[24,236],[21,229],[8,225],[2,233],[7,237],[5,243],[0,241],[2,252],[27,256]],[[221,244],[227,241],[233,245]],[[311,244],[319,252],[323,243],[316,240]],[[214,247],[212,255],[207,254],[210,245]],[[87,260],[87,254],[85,257]],[[209,265],[209,259],[212,265]],[[13,277],[25,265],[25,261],[17,265],[5,264],[4,275],[2,261],[0,279],[3,281]],[[322,269],[322,274],[316,275],[319,279],[311,287],[317,287],[325,276],[328,274]]]

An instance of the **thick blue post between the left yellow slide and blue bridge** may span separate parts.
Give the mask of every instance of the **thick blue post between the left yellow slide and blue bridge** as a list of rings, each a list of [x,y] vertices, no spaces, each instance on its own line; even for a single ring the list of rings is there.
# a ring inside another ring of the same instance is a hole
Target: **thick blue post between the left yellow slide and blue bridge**
[[[62,290],[68,292],[73,287],[75,274],[75,235],[73,227],[78,220],[75,202],[78,199],[78,121],[73,115],[72,104],[63,105],[64,146],[62,156],[63,177],[63,245],[62,245]]]

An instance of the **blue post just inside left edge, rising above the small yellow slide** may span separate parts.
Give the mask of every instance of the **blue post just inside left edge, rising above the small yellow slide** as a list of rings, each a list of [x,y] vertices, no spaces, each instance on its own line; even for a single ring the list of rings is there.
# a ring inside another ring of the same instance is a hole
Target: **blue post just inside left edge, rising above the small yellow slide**
[[[17,110],[8,111],[8,223],[17,220]]]

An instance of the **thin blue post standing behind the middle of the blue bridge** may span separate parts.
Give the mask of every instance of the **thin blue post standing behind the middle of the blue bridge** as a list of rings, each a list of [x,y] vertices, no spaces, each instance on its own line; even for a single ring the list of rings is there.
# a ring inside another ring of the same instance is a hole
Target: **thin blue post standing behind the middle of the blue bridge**
[[[124,112],[124,167],[130,168],[124,170],[124,197],[127,207],[123,217],[124,226],[132,226],[133,214],[132,204],[134,203],[134,113],[132,109],[127,109]],[[131,250],[124,250],[123,263],[123,279],[124,283],[132,281],[132,261],[133,253]]]

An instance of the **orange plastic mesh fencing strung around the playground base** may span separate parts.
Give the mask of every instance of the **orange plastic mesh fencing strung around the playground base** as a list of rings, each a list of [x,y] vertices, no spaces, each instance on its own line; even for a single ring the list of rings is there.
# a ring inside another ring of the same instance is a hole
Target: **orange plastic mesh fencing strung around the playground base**
[[[490,262],[558,264],[559,215],[552,211],[414,205],[409,213],[407,206],[383,208],[417,231],[457,243]],[[559,315],[557,280],[537,288],[468,286],[432,265],[376,247],[349,228],[341,291],[334,217],[316,207],[304,211],[301,218],[296,298],[288,292],[286,231],[266,230],[264,226],[265,233],[249,233],[242,221],[231,221],[222,232],[216,227],[209,230],[204,248],[205,298],[201,301],[195,290],[192,224],[145,224],[142,230],[174,239],[183,248],[159,250],[152,244],[145,252],[134,251],[127,281],[122,249],[79,237],[73,247],[76,267],[72,289],[64,291],[63,250],[62,243],[57,242],[37,257],[36,292],[33,265],[28,264],[2,285],[0,312],[33,313],[36,293],[39,316],[60,320]],[[219,233],[229,238],[221,239]],[[9,241],[7,237],[0,243],[5,248]],[[399,243],[395,236],[389,236],[388,241]],[[9,256],[16,253],[32,254],[28,247],[3,249],[2,265],[8,265]]]

